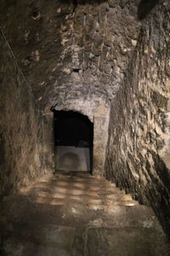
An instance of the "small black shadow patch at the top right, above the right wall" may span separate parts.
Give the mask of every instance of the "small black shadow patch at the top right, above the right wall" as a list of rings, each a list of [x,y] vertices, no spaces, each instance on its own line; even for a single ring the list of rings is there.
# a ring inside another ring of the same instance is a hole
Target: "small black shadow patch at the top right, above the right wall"
[[[144,20],[157,3],[159,3],[159,0],[141,0],[138,8],[139,20]]]

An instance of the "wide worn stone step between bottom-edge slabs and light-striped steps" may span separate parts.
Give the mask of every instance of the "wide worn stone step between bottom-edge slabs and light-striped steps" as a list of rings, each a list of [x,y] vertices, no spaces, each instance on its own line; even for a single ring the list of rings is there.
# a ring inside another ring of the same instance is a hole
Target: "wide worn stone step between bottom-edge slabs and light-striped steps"
[[[49,201],[38,203],[26,196],[12,197],[5,201],[5,207],[8,208],[6,218],[16,228],[20,224],[25,227],[25,230],[26,225],[30,223],[33,225],[71,224],[74,226],[79,226],[81,223],[81,225],[87,226],[89,222],[91,223],[95,219],[102,219],[102,225],[113,228],[128,226],[155,227],[158,223],[150,207],[138,204],[133,207],[112,205],[105,208],[94,206],[93,209],[93,206],[89,208],[77,202],[76,204],[71,202],[67,205],[61,204],[61,202],[60,205],[57,205],[53,202],[50,204]],[[120,202],[117,203],[120,204]]]

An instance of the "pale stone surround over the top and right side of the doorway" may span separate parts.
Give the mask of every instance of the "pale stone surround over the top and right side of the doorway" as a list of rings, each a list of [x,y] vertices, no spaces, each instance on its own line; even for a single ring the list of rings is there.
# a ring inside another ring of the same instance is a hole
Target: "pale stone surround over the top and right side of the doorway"
[[[82,113],[94,124],[93,141],[93,175],[103,175],[105,171],[105,154],[108,141],[110,108],[102,100],[69,100],[58,102],[52,111],[74,111]]]

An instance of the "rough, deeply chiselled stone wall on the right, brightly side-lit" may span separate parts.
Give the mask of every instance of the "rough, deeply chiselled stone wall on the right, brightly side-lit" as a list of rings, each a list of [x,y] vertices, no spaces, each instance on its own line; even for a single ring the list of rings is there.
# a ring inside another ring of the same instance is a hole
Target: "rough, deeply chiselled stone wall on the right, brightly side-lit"
[[[111,107],[105,176],[150,204],[170,235],[170,3],[144,20]]]

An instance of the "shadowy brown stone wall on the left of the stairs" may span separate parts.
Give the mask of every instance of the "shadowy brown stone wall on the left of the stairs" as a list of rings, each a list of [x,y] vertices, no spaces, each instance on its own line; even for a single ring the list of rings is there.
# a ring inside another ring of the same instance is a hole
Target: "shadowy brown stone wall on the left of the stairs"
[[[0,197],[43,172],[42,119],[29,85],[0,33]]]

